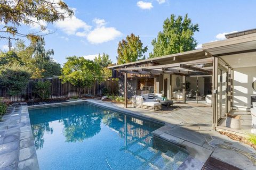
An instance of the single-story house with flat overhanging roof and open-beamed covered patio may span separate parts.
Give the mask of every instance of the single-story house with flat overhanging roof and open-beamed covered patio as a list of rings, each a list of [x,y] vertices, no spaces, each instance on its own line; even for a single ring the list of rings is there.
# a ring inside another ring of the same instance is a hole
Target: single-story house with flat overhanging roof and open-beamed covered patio
[[[216,127],[232,109],[249,111],[256,101],[256,29],[226,38],[205,43],[201,49],[109,69],[119,78],[119,92],[125,98],[155,92],[186,103],[186,95],[193,92],[208,97]]]

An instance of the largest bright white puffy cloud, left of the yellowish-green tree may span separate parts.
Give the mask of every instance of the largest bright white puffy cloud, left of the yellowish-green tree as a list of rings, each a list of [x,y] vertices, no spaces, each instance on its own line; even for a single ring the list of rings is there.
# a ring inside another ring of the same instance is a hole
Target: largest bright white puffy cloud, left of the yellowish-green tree
[[[105,43],[121,36],[122,33],[114,27],[98,27],[87,35],[87,40],[92,44]]]

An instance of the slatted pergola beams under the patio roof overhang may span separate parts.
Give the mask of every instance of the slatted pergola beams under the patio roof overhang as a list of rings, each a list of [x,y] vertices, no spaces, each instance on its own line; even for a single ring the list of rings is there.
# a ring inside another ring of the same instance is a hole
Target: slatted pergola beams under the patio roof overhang
[[[160,74],[176,74],[176,75],[212,75],[213,58],[204,58],[201,60],[194,60],[188,62],[180,62],[165,65],[154,65],[145,67],[129,67],[117,69],[120,72],[130,74],[143,75],[160,75]],[[204,65],[210,65],[204,67]]]

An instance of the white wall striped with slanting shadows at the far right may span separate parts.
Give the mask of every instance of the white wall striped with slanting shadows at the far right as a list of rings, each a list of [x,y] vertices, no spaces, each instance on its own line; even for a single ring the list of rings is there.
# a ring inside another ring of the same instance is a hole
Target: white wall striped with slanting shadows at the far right
[[[234,102],[233,107],[241,110],[251,108],[251,95],[256,95],[252,82],[256,80],[256,67],[234,69]]]

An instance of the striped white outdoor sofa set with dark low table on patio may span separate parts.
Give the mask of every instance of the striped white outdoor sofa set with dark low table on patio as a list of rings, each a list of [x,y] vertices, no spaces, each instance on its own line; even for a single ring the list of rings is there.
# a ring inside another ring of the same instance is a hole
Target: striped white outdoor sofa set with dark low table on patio
[[[148,111],[159,111],[163,106],[173,105],[172,100],[162,100],[163,94],[145,94],[132,97],[132,106]]]

